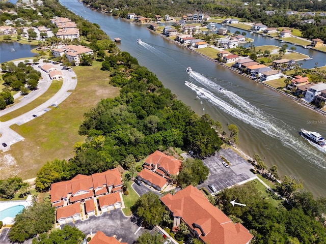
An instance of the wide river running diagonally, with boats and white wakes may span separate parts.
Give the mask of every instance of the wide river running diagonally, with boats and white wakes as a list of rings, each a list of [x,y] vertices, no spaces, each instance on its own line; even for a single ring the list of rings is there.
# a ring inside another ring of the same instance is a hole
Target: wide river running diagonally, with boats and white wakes
[[[268,167],[277,165],[280,174],[300,177],[307,190],[326,196],[326,148],[311,145],[298,133],[305,128],[326,136],[326,117],[175,45],[148,31],[145,25],[92,11],[77,0],[60,3],[99,24],[111,39],[120,38],[121,50],[154,72],[196,113],[210,114],[221,121],[225,131],[228,124],[237,125],[238,147],[244,153],[259,154]],[[138,38],[142,42],[136,42]],[[186,67],[192,67],[194,72],[188,75]]]

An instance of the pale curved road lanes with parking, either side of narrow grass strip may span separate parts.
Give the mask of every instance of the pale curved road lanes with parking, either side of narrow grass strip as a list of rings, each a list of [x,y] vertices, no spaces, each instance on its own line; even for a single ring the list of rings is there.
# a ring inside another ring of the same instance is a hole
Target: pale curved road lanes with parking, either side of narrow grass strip
[[[15,62],[15,64],[17,65],[19,62],[21,62],[21,61]],[[45,63],[40,63],[39,65],[42,66],[44,64]],[[35,119],[35,117],[33,117],[33,114],[40,116],[43,113],[46,113],[47,111],[50,110],[49,107],[51,107],[52,104],[59,105],[71,94],[68,91],[75,89],[75,87],[77,85],[76,74],[74,72],[69,72],[68,70],[61,70],[62,67],[60,65],[53,65],[53,66],[58,67],[58,70],[60,70],[63,74],[64,78],[63,78],[63,84],[62,84],[61,88],[58,90],[58,92],[53,97],[51,97],[49,100],[47,100],[43,104],[39,105],[38,107],[30,110],[29,112],[21,114],[13,119],[10,119],[8,121],[0,122],[0,134],[2,135],[0,137],[0,142],[1,142],[0,150],[7,151],[10,149],[10,146],[12,144],[14,144],[18,141],[24,140],[24,138],[21,135],[19,135],[18,133],[16,133],[12,129],[10,129],[10,126],[12,126],[14,124],[22,125],[32,119]],[[30,102],[32,102],[33,100],[37,99],[42,94],[44,94],[46,92],[46,90],[49,88],[49,86],[51,84],[51,79],[50,79],[48,73],[46,73],[43,70],[41,70],[40,68],[38,68],[38,66],[34,66],[34,69],[40,71],[42,74],[42,80],[40,80],[40,82],[39,82],[38,89],[31,92],[28,95],[28,98],[23,97],[21,99],[22,101],[20,103],[1,111],[1,113],[0,113],[1,116],[5,115],[9,112],[12,112],[18,108],[21,108],[21,107],[25,106],[26,104],[29,104]],[[2,145],[3,142],[5,142],[8,146],[4,147]]]

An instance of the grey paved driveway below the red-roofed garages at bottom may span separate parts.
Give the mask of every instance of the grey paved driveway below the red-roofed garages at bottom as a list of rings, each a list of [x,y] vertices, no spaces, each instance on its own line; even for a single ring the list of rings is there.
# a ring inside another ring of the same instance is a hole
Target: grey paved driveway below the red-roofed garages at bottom
[[[121,242],[128,244],[132,244],[146,231],[132,222],[130,218],[125,217],[121,209],[114,209],[110,211],[110,214],[104,213],[99,217],[91,216],[88,220],[78,220],[75,224],[69,223],[68,225],[77,227],[86,235],[91,231],[96,233],[99,230],[107,236],[116,235],[118,240],[121,238]]]

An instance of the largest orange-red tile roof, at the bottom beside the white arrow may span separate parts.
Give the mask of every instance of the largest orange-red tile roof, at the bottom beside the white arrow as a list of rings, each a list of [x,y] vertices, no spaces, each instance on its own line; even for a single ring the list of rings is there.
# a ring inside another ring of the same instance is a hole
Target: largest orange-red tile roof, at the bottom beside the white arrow
[[[232,221],[195,187],[168,194],[161,201],[170,209],[174,217],[181,217],[188,226],[200,235],[205,243],[245,244],[253,236],[240,223]]]

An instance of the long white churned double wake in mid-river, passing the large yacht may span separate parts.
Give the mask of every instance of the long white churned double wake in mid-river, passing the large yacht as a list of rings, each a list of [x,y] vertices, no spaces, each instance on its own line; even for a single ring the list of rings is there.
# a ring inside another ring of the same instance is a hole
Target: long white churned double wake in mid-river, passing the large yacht
[[[293,136],[296,130],[285,124],[284,121],[258,109],[233,92],[226,90],[197,72],[193,71],[189,74],[189,77],[191,82],[186,81],[185,85],[194,90],[200,99],[206,100],[233,117],[261,130],[264,134],[278,138],[283,145],[293,149],[302,158],[309,158],[314,164],[326,168],[325,157],[321,154],[321,152],[326,152],[307,147],[302,140],[298,140],[298,138]]]

